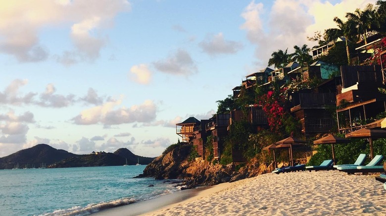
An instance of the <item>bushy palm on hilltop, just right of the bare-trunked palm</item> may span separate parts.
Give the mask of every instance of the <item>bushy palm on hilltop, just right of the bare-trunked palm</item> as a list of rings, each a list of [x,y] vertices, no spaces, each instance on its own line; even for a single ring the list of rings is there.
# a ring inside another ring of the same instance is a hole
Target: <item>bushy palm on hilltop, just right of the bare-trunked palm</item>
[[[367,44],[367,31],[380,27],[379,15],[371,3],[367,4],[364,10],[357,8],[354,13],[346,13],[346,18],[356,24],[359,37],[363,34],[365,44]]]

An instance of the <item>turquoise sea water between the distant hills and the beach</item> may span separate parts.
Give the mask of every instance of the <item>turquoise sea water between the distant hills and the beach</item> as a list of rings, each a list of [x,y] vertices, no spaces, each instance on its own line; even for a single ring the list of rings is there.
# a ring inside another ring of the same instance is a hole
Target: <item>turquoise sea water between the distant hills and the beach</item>
[[[145,165],[0,170],[0,215],[83,216],[178,190],[163,180],[133,179],[144,169]]]

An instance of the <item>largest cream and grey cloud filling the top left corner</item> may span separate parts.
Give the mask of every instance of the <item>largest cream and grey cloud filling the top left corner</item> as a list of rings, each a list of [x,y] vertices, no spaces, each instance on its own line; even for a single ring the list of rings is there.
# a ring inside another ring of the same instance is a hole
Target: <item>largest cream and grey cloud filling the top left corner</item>
[[[50,26],[71,28],[71,38],[78,56],[68,61],[68,55],[58,57],[64,64],[77,59],[94,60],[106,43],[103,29],[112,25],[120,12],[129,11],[126,0],[24,0],[2,3],[0,7],[0,52],[13,55],[20,62],[47,59],[39,31]],[[69,27],[69,25],[71,27]],[[74,51],[71,51],[74,52]]]

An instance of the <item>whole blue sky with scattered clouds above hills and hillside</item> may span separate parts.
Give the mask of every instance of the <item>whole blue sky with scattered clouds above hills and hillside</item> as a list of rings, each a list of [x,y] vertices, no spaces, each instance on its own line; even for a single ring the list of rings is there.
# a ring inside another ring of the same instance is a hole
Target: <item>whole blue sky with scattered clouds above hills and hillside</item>
[[[0,157],[42,143],[158,156],[272,52],[375,2],[0,0]]]

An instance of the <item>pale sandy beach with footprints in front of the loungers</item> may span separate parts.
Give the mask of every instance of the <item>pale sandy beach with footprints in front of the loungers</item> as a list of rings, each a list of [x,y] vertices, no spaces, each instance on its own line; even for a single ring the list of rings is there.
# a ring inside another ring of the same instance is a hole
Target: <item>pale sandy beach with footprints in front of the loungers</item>
[[[385,216],[386,190],[369,175],[338,171],[264,174],[223,183],[145,216]]]

